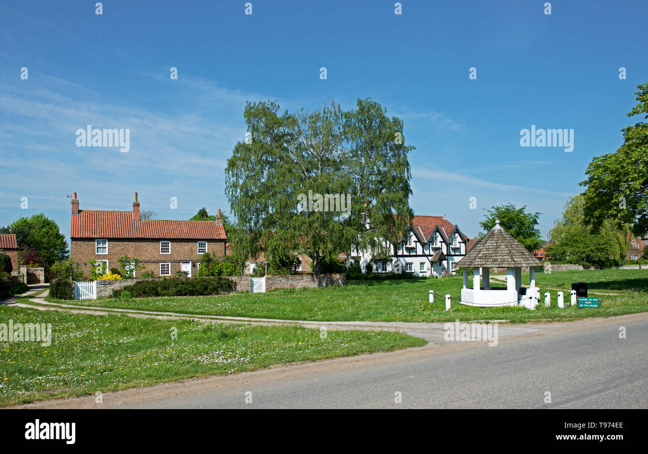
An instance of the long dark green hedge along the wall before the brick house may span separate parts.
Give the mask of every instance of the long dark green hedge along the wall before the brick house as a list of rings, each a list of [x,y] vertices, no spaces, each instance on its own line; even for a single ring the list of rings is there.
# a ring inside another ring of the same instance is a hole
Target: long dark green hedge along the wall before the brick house
[[[122,289],[113,290],[113,297],[119,298],[122,291],[128,291],[133,298],[177,297],[218,295],[233,291],[236,284],[225,277],[172,277],[163,280],[141,280]]]

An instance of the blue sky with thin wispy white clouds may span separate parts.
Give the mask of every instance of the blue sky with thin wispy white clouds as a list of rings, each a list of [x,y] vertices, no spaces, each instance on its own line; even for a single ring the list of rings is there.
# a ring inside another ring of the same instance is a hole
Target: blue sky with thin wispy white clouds
[[[246,101],[371,97],[416,147],[415,214],[474,236],[484,208],[511,202],[542,212],[544,238],[592,157],[639,121],[625,114],[648,80],[645,1],[552,1],[550,16],[526,0],[403,0],[401,15],[395,1],[245,3],[104,1],[101,16],[95,1],[3,3],[0,225],[43,212],[68,238],[72,192],[81,209],[128,210],[139,192],[161,219],[229,212]],[[130,129],[130,151],[78,148],[87,124]],[[573,129],[573,152],[521,147],[531,124]]]

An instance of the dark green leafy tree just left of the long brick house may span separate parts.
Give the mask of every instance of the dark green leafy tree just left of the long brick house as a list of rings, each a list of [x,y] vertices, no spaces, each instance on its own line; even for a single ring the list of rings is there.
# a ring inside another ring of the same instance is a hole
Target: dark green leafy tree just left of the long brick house
[[[19,218],[5,228],[8,233],[16,234],[16,242],[19,251],[23,251],[23,262],[25,254],[30,249],[36,249],[38,256],[42,258],[41,266],[50,267],[54,262],[65,260],[68,255],[65,236],[60,233],[55,221],[47,218],[44,214],[34,214],[31,218]],[[36,260],[34,260],[36,261]]]

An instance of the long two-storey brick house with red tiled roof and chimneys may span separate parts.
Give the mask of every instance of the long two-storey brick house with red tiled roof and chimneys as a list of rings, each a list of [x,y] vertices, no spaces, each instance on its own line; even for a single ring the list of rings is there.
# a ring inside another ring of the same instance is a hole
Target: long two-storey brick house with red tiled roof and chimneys
[[[140,265],[158,276],[188,271],[195,276],[205,252],[226,254],[226,234],[220,210],[216,221],[163,221],[139,218],[135,192],[132,211],[80,210],[72,199],[70,257],[88,275],[90,260],[119,268],[119,257],[139,258]]]

